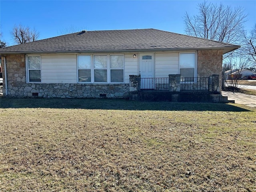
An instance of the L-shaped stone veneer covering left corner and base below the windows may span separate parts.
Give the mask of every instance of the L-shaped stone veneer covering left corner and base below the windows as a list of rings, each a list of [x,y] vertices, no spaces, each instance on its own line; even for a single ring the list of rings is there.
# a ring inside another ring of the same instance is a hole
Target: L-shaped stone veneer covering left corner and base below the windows
[[[5,57],[8,97],[129,98],[129,84],[26,83],[25,55],[5,55]],[[3,60],[2,63],[4,63]]]

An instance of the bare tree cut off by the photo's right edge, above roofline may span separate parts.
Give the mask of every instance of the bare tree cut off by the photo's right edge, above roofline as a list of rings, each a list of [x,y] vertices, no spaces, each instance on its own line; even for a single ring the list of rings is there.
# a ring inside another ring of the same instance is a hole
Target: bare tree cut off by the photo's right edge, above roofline
[[[247,36],[244,33],[245,45],[244,52],[248,55],[249,60],[256,66],[256,23]]]

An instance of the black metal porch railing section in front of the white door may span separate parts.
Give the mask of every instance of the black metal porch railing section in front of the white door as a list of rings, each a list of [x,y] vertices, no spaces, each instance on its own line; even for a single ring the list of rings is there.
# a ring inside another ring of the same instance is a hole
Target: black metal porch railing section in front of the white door
[[[141,89],[169,90],[169,78],[141,78]]]

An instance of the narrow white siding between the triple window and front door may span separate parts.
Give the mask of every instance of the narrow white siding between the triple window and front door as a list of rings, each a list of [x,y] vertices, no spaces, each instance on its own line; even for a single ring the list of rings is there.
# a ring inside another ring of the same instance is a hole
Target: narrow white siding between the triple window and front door
[[[129,75],[138,75],[138,54],[137,58],[133,58],[134,54],[124,55],[124,82],[129,83]]]

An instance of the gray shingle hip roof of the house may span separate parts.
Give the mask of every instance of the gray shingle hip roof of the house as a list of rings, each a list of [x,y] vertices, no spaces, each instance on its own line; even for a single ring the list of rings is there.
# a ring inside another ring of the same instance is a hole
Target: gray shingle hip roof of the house
[[[156,50],[223,49],[227,44],[156,29],[103,30],[66,34],[0,49],[0,53],[133,52]]]

